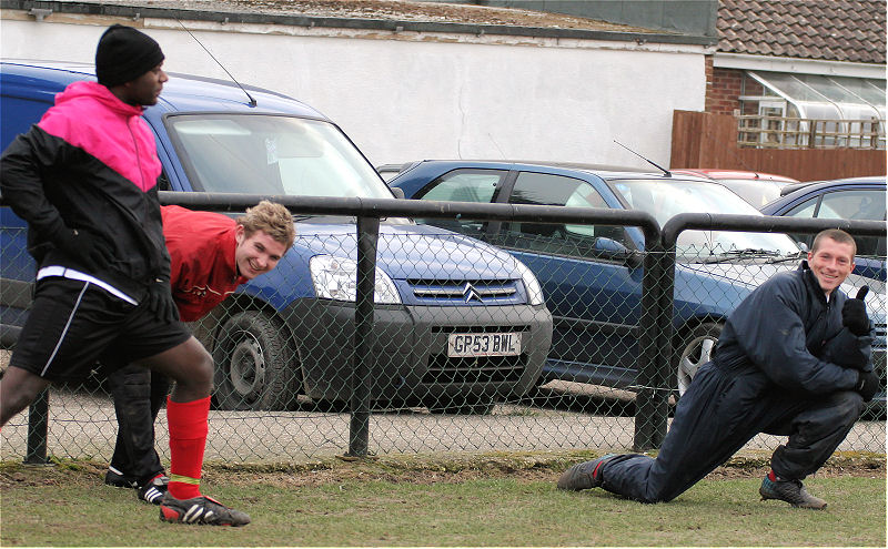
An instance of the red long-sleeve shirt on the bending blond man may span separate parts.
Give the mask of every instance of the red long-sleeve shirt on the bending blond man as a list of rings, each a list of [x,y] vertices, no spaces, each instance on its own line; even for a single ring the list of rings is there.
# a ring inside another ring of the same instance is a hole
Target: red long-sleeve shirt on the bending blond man
[[[236,223],[226,215],[161,206],[170,284],[183,322],[194,322],[248,279],[234,264]]]

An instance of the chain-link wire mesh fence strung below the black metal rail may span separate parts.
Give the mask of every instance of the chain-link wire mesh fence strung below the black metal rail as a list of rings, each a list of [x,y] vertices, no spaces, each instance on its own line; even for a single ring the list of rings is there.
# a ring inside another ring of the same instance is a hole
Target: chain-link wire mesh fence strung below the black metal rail
[[[164,193],[171,203],[219,211],[260,199]],[[321,217],[299,223],[294,248],[274,272],[191,326],[216,368],[208,459],[656,447],[726,315],[799,263],[743,247],[695,256],[694,240],[736,231],[783,238],[777,233],[829,225],[689,215],[660,233],[642,212],[276,200],[297,220]],[[354,216],[351,228],[325,223],[332,214]],[[512,230],[493,247],[398,217],[407,215]],[[829,226],[852,234],[884,233],[875,223],[836,223]],[[627,226],[644,230],[646,251],[619,244]],[[11,347],[33,264],[22,227],[4,224],[2,237],[3,344]],[[849,278],[864,282],[872,287],[884,385],[885,283]],[[13,418],[0,457],[110,459],[117,421],[100,369],[82,385],[53,386]],[[882,394],[840,449],[882,453],[884,414]],[[169,458],[163,410],[159,423],[157,447]],[[750,446],[780,441],[761,435]]]

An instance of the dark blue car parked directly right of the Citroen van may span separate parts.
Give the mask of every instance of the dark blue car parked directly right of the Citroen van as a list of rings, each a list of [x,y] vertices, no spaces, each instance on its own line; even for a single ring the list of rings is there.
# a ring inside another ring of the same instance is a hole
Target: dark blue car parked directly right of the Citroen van
[[[694,175],[607,172],[509,162],[422,161],[389,181],[408,199],[643,210],[660,225],[686,212],[763,215],[724,186]],[[634,388],[640,317],[640,230],[462,220],[428,223],[512,252],[536,274],[555,322],[543,379]],[[803,253],[787,235],[686,231],[677,243],[676,338],[672,388],[683,393],[710,358],[726,316]],[[869,284],[879,326],[877,367],[885,367],[884,284],[857,275],[846,292]]]

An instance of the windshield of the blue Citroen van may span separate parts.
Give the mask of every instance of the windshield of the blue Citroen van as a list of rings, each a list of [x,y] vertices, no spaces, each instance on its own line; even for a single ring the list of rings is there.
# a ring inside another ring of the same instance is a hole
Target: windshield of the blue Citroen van
[[[391,199],[333,124],[275,114],[176,114],[168,132],[194,191]]]

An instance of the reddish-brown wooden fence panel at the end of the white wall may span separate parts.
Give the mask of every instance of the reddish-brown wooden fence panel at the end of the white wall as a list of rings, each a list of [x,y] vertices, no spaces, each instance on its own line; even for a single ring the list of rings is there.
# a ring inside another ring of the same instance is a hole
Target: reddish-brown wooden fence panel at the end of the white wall
[[[670,167],[776,173],[799,181],[886,173],[886,151],[861,149],[740,149],[729,114],[674,111]]]

